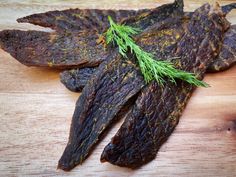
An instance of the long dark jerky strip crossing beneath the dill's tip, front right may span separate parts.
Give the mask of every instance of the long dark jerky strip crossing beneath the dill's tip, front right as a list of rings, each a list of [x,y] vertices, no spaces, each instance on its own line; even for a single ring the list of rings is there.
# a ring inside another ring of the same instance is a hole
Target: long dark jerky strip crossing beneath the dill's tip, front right
[[[181,57],[181,68],[193,72],[199,79],[220,51],[229,25],[222,14],[218,6],[210,8],[209,4],[197,9],[178,43],[175,56]],[[105,147],[101,161],[137,168],[154,159],[178,124],[193,90],[194,86],[180,80],[177,85],[167,82],[160,87],[153,82],[145,87]]]

